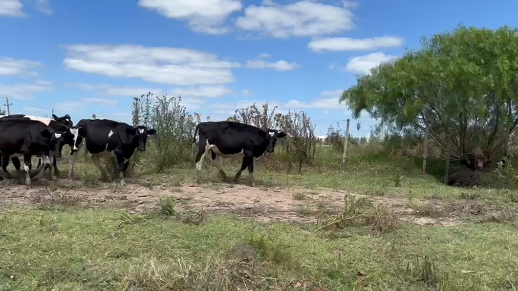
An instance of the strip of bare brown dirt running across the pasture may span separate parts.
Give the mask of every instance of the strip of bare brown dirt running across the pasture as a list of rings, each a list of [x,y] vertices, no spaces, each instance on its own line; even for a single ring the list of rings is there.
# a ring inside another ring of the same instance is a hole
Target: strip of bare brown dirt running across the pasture
[[[59,181],[66,185],[67,180]],[[180,211],[200,211],[207,213],[230,213],[270,223],[276,221],[314,223],[318,211],[334,213],[343,207],[344,196],[355,195],[390,207],[401,212],[400,220],[431,226],[452,226],[459,222],[450,217],[428,217],[415,215],[405,197],[363,196],[343,190],[281,187],[250,187],[242,184],[143,186],[130,184],[126,187],[106,183],[97,187],[56,187],[34,183],[25,185],[0,185],[0,204],[49,203],[56,199],[72,199],[82,206],[122,206],[131,213],[148,213],[156,209],[159,197],[174,195],[176,209]],[[57,198],[56,198],[57,197]],[[68,198],[67,198],[68,197]],[[427,201],[413,201],[413,203]],[[415,204],[414,204],[415,205]]]

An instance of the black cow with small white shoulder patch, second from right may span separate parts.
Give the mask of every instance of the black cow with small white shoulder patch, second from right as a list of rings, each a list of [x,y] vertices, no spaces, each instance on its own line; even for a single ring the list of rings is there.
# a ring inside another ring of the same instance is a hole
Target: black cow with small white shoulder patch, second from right
[[[148,136],[154,135],[156,129],[146,126],[131,126],[124,122],[108,119],[81,119],[76,127],[79,128],[79,136],[84,138],[87,151],[92,154],[92,161],[99,169],[103,179],[110,180],[105,169],[99,162],[99,157],[115,156],[117,159],[117,176],[122,176],[121,184],[125,185],[126,170],[130,164],[130,158],[137,149],[146,151]],[[81,140],[78,141],[81,144]],[[78,151],[74,151],[70,160],[68,177],[71,180],[74,172],[74,163]]]

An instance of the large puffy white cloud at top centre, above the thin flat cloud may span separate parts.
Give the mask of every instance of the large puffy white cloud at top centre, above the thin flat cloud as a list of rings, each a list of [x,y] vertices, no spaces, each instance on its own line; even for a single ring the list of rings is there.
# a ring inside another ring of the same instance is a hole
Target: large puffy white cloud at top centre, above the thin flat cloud
[[[248,6],[236,26],[276,38],[335,34],[354,27],[349,8],[348,3],[333,6],[303,0],[281,5],[268,0],[262,6]]]

